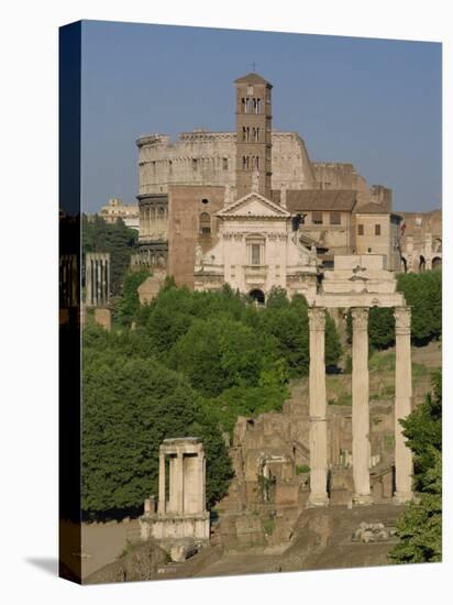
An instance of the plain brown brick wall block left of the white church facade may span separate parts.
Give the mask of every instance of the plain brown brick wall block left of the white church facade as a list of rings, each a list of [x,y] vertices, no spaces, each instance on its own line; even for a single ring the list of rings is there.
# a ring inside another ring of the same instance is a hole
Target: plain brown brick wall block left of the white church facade
[[[213,186],[176,186],[168,190],[168,275],[176,284],[194,288],[196,249],[206,253],[218,242],[218,219],[223,208],[225,188]],[[200,217],[209,215],[210,233],[201,233]]]

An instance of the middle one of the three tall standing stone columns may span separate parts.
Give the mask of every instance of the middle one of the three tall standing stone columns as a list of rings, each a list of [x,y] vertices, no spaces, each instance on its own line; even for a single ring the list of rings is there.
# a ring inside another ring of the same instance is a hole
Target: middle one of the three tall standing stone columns
[[[354,504],[372,504],[369,488],[368,309],[352,312],[352,470]]]

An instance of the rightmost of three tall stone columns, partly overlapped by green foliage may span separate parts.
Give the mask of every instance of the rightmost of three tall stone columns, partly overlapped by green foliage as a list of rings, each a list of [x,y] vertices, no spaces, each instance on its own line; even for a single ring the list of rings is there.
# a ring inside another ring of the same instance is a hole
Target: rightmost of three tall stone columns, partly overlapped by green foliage
[[[399,420],[411,411],[412,366],[410,352],[410,308],[395,308],[395,471],[396,504],[409,502],[412,493],[412,453],[406,446]]]

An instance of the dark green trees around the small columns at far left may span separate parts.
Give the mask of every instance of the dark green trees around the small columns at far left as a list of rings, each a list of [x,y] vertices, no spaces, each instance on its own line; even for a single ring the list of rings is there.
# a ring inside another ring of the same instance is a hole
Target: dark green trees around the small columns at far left
[[[134,253],[139,241],[139,232],[130,229],[119,218],[115,223],[108,223],[99,215],[93,220],[82,216],[81,250],[87,252],[110,253],[110,289],[113,296],[122,292],[124,274],[131,264],[131,254]]]

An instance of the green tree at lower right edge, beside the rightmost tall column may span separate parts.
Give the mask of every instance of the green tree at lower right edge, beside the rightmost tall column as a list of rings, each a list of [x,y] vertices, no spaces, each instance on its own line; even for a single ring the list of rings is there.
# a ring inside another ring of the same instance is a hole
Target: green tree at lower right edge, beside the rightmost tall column
[[[413,452],[413,487],[418,501],[398,520],[399,543],[390,551],[396,563],[442,560],[442,380],[433,377],[428,394],[406,420],[404,433]]]

